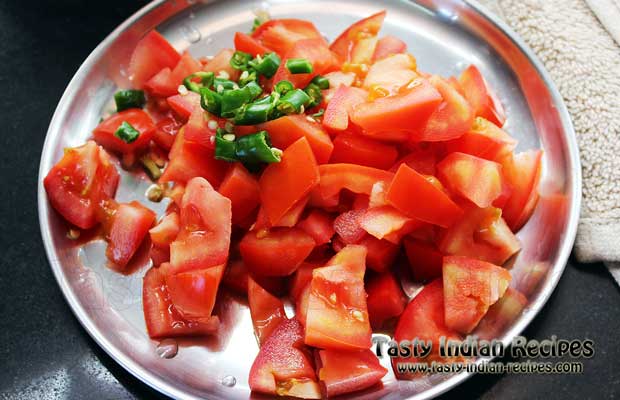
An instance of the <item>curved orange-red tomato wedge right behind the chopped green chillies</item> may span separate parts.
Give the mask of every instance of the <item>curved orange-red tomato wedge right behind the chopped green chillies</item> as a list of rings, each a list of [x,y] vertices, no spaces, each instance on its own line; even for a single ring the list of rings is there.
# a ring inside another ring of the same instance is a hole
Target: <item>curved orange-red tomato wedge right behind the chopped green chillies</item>
[[[304,39],[317,39],[321,45],[326,46],[325,39],[312,22],[293,18],[264,22],[256,28],[252,37],[280,57],[285,56],[297,42]]]

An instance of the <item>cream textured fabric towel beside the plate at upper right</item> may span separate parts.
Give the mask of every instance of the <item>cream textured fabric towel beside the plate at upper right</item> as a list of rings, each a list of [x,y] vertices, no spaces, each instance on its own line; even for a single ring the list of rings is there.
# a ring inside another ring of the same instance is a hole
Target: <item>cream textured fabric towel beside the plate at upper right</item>
[[[604,261],[620,283],[620,0],[479,3],[534,50],[562,94],[583,171],[574,254]]]

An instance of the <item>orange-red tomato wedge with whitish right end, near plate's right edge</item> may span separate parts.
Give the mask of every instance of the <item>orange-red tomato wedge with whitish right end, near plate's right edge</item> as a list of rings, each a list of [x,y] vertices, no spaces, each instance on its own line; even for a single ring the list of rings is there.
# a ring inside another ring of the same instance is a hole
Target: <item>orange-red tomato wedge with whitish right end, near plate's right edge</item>
[[[461,152],[491,161],[510,155],[517,141],[501,128],[484,118],[476,117],[471,129],[463,136],[446,143],[448,152]]]

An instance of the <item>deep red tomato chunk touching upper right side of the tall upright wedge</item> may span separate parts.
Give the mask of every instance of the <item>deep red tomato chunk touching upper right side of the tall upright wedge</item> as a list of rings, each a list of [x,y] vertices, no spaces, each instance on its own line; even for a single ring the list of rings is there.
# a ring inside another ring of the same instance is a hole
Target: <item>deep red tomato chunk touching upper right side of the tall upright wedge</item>
[[[233,224],[249,217],[260,203],[258,181],[241,163],[229,168],[218,191],[230,199]]]

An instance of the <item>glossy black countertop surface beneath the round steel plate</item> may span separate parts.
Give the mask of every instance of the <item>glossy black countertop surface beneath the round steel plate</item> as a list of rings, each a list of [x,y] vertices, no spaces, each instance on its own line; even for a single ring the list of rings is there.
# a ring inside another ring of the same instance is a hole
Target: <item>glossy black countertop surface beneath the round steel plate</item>
[[[39,234],[36,187],[45,132],[89,52],[145,4],[114,0],[0,2],[0,397],[152,399],[86,334],[65,303]],[[612,398],[620,388],[620,292],[601,264],[571,261],[529,338],[589,338],[583,375],[476,376],[462,398]]]

